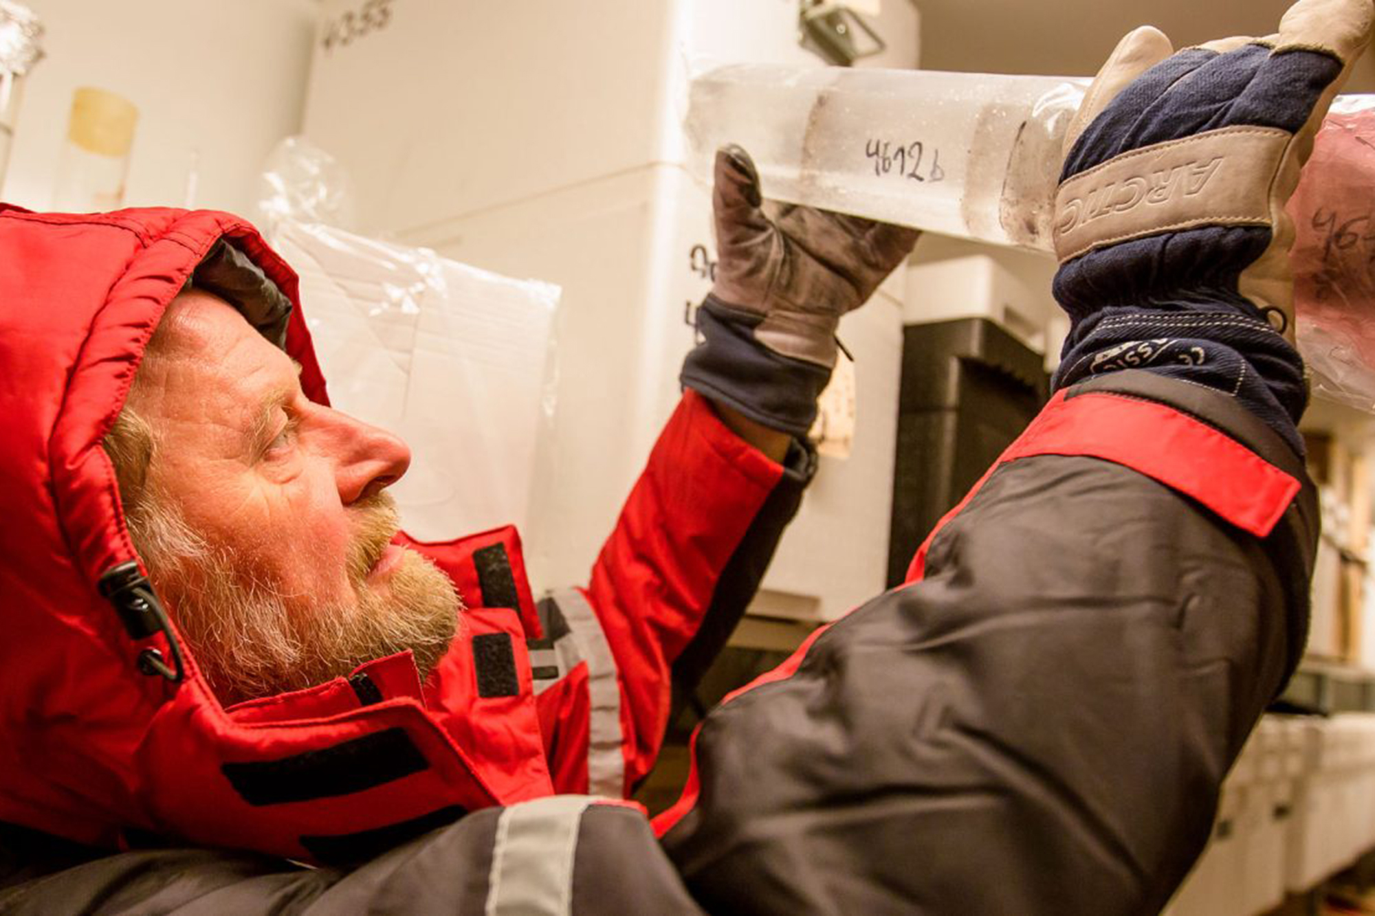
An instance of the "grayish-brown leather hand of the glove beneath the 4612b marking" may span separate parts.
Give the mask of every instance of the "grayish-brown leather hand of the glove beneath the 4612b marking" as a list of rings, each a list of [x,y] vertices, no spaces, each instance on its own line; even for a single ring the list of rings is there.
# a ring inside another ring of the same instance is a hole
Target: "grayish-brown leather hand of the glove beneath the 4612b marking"
[[[916,230],[810,206],[770,205],[738,146],[716,151],[712,210],[718,264],[711,294],[758,322],[755,340],[825,369],[836,325],[859,308],[917,241]]]

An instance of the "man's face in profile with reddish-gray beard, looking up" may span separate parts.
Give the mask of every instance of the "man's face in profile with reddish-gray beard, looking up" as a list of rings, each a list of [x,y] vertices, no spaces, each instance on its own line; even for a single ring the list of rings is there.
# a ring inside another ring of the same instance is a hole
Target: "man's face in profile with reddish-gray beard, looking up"
[[[231,305],[177,297],[128,407],[154,437],[131,531],[221,701],[326,681],[410,648],[422,677],[461,602],[390,545],[396,436],[301,392]]]

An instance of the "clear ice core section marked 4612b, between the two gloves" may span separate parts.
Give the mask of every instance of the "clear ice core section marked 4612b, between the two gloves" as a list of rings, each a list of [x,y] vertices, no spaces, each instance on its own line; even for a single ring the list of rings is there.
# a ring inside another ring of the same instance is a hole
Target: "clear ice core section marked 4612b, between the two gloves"
[[[1070,118],[1088,78],[734,65],[692,83],[690,168],[738,143],[767,197],[1050,250]],[[1350,98],[1350,96],[1343,96]]]

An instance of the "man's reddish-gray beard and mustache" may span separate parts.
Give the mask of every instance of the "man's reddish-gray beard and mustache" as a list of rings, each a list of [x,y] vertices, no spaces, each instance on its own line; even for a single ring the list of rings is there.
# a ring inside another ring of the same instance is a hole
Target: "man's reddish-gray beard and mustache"
[[[454,640],[463,604],[428,558],[407,552],[386,594],[364,585],[397,528],[385,492],[356,506],[363,524],[348,563],[356,598],[348,604],[285,594],[232,545],[192,531],[169,501],[143,497],[128,514],[133,545],[223,706],[323,684],[404,649],[424,682]],[[301,553],[309,563],[308,545]]]

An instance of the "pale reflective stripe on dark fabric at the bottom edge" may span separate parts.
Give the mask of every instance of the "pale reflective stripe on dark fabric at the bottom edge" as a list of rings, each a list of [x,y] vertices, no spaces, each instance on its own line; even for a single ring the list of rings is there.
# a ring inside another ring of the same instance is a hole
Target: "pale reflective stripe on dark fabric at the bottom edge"
[[[573,895],[573,853],[587,795],[550,795],[512,805],[496,821],[487,916],[565,916]]]

